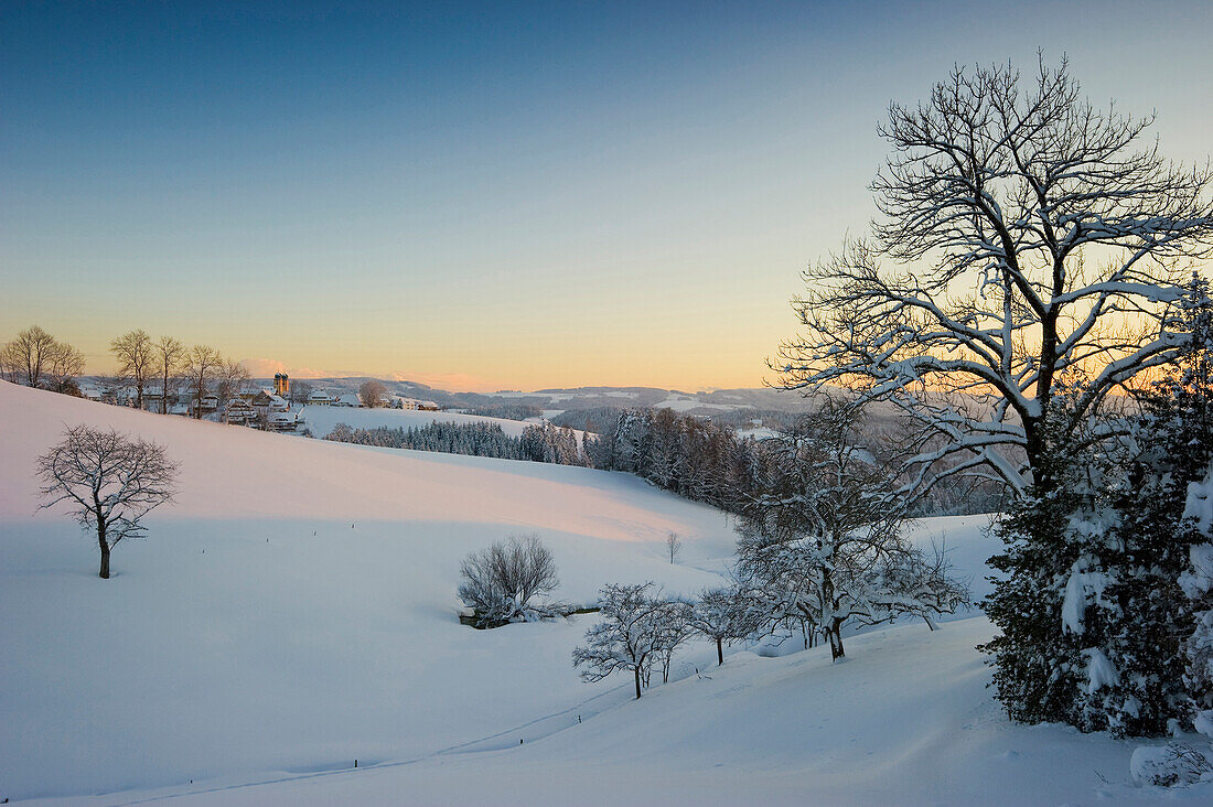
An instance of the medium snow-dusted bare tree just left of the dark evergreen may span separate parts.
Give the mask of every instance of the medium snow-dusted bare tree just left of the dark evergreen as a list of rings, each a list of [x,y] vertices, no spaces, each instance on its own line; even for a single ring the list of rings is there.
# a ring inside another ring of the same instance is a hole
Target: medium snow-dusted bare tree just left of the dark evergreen
[[[773,624],[804,620],[835,659],[848,624],[955,613],[968,590],[945,555],[927,557],[905,538],[905,502],[893,474],[859,442],[852,407],[828,402],[778,443],[758,495],[739,524],[738,575]]]

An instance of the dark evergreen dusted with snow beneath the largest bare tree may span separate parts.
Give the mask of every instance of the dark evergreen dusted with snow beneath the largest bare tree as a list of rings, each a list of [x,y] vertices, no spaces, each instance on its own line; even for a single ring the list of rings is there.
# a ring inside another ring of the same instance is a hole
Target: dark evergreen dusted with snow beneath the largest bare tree
[[[1132,416],[1088,426],[1121,439],[1055,428],[1040,482],[998,525],[990,564],[1006,579],[985,608],[1001,635],[983,649],[1015,720],[1151,735],[1186,717],[1179,579],[1198,538],[1181,519],[1213,456],[1209,311],[1194,279],[1171,320],[1189,345],[1178,364]]]

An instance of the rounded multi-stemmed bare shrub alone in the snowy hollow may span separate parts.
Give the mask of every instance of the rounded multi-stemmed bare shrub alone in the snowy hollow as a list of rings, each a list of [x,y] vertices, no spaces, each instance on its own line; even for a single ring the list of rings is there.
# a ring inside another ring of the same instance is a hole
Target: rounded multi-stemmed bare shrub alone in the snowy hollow
[[[460,564],[459,596],[475,613],[479,627],[557,616],[562,603],[533,602],[560,585],[552,552],[535,535],[473,552]]]

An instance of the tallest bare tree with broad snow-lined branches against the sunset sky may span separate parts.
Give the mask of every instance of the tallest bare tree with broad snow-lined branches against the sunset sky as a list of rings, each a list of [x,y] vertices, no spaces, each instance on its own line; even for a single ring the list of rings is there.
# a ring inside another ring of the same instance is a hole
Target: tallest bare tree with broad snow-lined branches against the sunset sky
[[[785,387],[845,385],[916,425],[913,487],[941,473],[1023,490],[1060,386],[1077,422],[1174,359],[1185,258],[1209,255],[1208,167],[1166,160],[1152,116],[1095,109],[1063,59],[1030,80],[956,68],[894,103],[866,240],[804,274]],[[1145,141],[1145,142],[1143,142]]]

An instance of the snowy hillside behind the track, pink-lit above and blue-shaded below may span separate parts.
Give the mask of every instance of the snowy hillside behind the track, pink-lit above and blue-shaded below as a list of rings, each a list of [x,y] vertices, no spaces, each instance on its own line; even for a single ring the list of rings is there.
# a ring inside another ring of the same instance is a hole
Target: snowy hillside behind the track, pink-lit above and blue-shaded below
[[[69,518],[35,515],[64,425],[167,445],[181,494],[115,576]],[[608,580],[693,592],[733,536],[714,510],[617,473],[377,450],[89,403],[0,382],[0,797],[402,758],[591,697],[586,624],[473,631],[468,551],[552,547],[558,595]],[[661,558],[667,532],[683,562]]]

